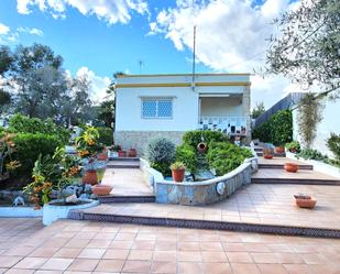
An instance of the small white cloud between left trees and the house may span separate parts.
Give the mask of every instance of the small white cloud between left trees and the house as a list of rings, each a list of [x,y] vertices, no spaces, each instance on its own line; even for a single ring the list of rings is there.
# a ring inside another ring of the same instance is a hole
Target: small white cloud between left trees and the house
[[[76,73],[76,76],[87,76],[90,81],[90,98],[95,102],[100,102],[106,97],[106,90],[111,84],[109,77],[100,77],[90,70],[88,67],[80,67]]]

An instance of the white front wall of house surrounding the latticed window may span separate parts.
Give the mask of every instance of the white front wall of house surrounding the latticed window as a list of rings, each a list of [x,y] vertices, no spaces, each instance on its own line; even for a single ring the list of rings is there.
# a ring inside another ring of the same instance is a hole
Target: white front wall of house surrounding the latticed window
[[[173,119],[142,119],[142,97],[173,97]],[[187,131],[198,124],[198,94],[187,87],[121,88],[116,131]]]

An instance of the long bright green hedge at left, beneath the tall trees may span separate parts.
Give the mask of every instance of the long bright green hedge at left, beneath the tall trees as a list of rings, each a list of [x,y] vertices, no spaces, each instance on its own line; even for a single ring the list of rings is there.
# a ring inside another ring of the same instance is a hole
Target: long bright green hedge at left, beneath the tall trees
[[[69,130],[55,124],[52,119],[43,121],[39,118],[29,118],[21,114],[15,114],[10,119],[9,131],[13,133],[56,135],[63,144],[67,144],[70,136]]]

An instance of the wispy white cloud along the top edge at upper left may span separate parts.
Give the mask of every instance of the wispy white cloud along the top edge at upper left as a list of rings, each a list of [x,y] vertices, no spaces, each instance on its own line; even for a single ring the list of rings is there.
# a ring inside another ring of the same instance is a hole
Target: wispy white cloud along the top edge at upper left
[[[84,15],[97,15],[109,24],[128,23],[131,11],[140,14],[147,13],[146,0],[17,0],[19,13],[29,14],[31,8],[48,11],[54,19],[65,18],[67,7],[77,9]]]

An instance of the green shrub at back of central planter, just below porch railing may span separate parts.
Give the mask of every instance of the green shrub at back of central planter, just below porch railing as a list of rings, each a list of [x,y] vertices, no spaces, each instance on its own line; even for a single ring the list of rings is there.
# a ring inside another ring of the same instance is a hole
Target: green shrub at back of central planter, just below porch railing
[[[229,139],[220,131],[194,130],[187,131],[183,136],[183,142],[196,147],[200,142],[208,144],[210,142],[228,142]]]

